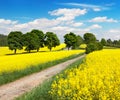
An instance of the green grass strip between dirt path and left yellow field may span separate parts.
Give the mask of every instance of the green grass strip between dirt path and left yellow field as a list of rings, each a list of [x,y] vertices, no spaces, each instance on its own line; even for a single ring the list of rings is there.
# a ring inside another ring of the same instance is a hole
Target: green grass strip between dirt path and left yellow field
[[[76,58],[76,57],[78,57],[82,54],[83,53],[77,54],[77,55],[72,55],[72,56],[69,56],[69,57],[66,57],[66,58],[63,58],[63,59],[55,60],[55,61],[52,61],[52,62],[47,62],[47,63],[40,64],[40,65],[37,65],[37,66],[34,66],[34,67],[30,66],[29,68],[27,67],[24,70],[1,73],[0,74],[0,85],[15,81],[16,79],[19,79],[19,78],[24,77],[26,75],[30,75],[30,74],[35,73],[35,72],[39,72],[39,71],[41,71],[45,68],[54,66],[54,65],[59,64],[61,62],[65,62],[69,59]]]

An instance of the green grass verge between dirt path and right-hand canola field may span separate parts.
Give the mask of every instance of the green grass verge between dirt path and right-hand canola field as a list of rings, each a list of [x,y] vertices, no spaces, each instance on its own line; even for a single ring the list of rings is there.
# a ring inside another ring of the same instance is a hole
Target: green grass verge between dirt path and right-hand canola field
[[[74,62],[73,64],[69,65],[66,69],[78,67],[83,62],[83,59],[84,58]],[[63,70],[59,74],[64,74],[65,70]],[[59,74],[57,74],[57,75],[59,75]],[[51,79],[45,81],[40,86],[34,88],[32,91],[22,95],[21,97],[16,98],[16,100],[55,100],[48,93],[48,91],[50,91],[50,89],[51,89],[52,82],[54,80],[56,80],[55,76],[53,76]]]

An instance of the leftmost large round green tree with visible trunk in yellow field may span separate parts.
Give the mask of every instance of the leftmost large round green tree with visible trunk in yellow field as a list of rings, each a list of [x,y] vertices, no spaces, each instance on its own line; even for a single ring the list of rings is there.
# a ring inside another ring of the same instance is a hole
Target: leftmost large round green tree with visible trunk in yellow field
[[[23,49],[22,32],[20,31],[10,32],[7,41],[9,49],[14,50],[15,54],[17,49],[19,50]]]

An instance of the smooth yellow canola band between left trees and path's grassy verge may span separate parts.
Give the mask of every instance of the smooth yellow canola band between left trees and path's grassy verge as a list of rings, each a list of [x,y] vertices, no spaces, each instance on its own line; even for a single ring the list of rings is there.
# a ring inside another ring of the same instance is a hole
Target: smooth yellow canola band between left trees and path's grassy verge
[[[83,52],[84,50],[70,50],[0,56],[0,73],[19,71],[30,66],[37,66],[38,64],[63,59]]]

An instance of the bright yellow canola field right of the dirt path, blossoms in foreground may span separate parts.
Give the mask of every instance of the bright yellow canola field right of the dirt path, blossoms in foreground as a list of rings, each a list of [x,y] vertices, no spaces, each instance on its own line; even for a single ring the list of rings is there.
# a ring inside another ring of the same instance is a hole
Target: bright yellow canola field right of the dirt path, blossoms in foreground
[[[56,77],[49,93],[56,100],[120,100],[120,49],[90,53],[77,68]]]

